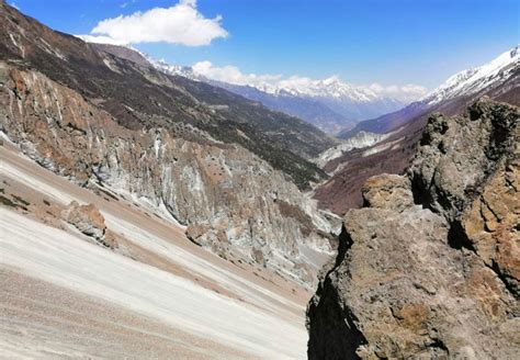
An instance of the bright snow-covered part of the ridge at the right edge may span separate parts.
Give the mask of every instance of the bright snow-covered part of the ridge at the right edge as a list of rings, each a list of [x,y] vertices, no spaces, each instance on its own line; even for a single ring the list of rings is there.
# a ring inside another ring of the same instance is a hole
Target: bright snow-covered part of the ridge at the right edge
[[[499,83],[501,79],[507,79],[519,66],[520,47],[517,45],[483,66],[453,75],[421,101],[434,105],[459,95],[477,93],[495,82]]]

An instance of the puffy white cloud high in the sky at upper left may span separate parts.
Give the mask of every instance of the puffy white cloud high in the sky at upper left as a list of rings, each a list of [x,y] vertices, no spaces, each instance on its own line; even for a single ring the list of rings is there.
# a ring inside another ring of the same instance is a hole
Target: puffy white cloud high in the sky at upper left
[[[154,8],[131,15],[105,19],[79,37],[111,44],[170,43],[186,46],[208,45],[228,32],[222,18],[206,19],[196,9],[195,0],[180,0],[170,8]]]

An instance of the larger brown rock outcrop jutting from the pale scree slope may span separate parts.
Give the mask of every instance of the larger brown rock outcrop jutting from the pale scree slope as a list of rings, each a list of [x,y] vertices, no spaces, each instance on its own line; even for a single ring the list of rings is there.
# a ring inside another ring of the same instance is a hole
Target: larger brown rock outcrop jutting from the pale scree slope
[[[108,230],[103,215],[93,204],[80,205],[77,201],[72,201],[63,211],[61,216],[97,243],[112,249],[117,247],[115,236]]]

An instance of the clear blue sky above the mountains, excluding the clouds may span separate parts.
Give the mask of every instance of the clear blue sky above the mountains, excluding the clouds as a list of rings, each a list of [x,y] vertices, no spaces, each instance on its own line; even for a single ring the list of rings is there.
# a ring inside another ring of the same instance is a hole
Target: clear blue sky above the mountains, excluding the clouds
[[[520,42],[517,0],[184,1],[227,36],[215,35],[208,45],[199,46],[165,42],[133,46],[171,64],[211,61],[246,74],[316,79],[337,75],[358,85],[414,83],[431,89]],[[8,2],[53,29],[89,34],[104,19],[170,8],[178,1]]]

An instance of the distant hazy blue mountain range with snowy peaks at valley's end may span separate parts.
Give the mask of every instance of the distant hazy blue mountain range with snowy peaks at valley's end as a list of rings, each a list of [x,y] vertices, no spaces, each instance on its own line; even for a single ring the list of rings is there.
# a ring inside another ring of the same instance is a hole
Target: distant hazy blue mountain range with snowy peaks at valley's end
[[[352,128],[362,120],[396,111],[406,103],[394,98],[381,97],[374,91],[355,87],[338,77],[325,80],[305,79],[282,81],[281,85],[235,85],[216,81],[197,74],[193,68],[148,60],[161,71],[200,80],[224,88],[264,106],[297,116],[328,134]]]

